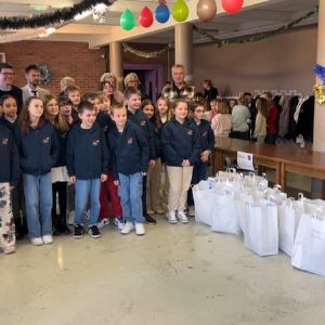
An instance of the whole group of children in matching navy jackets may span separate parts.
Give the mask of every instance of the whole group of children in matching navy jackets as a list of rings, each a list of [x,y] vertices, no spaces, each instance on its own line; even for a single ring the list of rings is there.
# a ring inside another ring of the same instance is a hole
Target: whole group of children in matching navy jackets
[[[132,87],[118,103],[98,92],[81,98],[78,87],[70,86],[58,99],[29,98],[20,117],[14,98],[1,98],[0,107],[0,247],[4,252],[14,251],[11,203],[17,203],[9,199],[14,191],[25,196],[25,207],[18,210],[27,217],[34,245],[51,244],[52,234],[68,233],[67,208],[75,211],[74,238],[83,236],[84,218],[90,236],[100,237],[99,223],[109,221],[108,196],[116,225],[125,235],[133,230],[144,235],[144,221],[156,222],[150,213],[165,212],[161,194],[168,193],[168,221],[188,222],[190,185],[206,178],[214,147],[202,103],[181,99],[168,103],[160,98],[154,105],[141,102],[140,91]],[[169,181],[161,182],[162,171]]]

